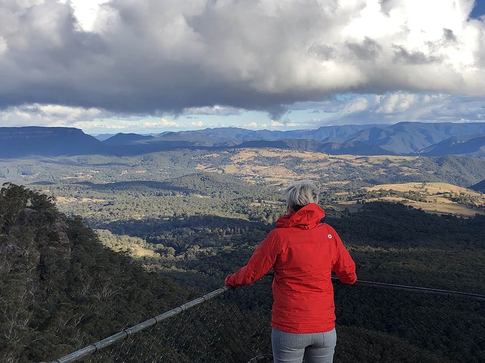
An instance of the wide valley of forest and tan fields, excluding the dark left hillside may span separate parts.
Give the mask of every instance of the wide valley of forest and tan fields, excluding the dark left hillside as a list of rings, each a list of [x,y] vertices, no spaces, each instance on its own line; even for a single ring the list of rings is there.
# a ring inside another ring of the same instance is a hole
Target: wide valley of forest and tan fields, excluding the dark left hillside
[[[250,256],[284,213],[282,190],[297,179],[318,185],[325,219],[341,230],[361,266],[370,264],[362,269],[365,279],[450,288],[453,284],[446,278],[424,270],[419,278],[411,272],[398,273],[396,266],[415,263],[418,250],[436,259],[436,264],[453,253],[461,256],[457,261],[476,260],[475,265],[484,264],[485,270],[485,256],[476,250],[483,251],[483,241],[474,227],[484,218],[485,197],[467,188],[485,176],[485,162],[478,158],[235,148],[8,163],[9,170],[28,167],[29,188],[53,198],[66,215],[81,216],[105,245],[126,251],[149,271],[204,291],[219,287],[225,274]],[[25,175],[16,177],[26,180]],[[395,213],[395,220],[381,220]],[[365,236],[356,230],[364,216],[366,230],[386,227]],[[425,221],[426,232],[414,242],[402,240],[397,221],[412,228],[416,218]],[[349,225],[349,221],[354,222]],[[450,240],[449,227],[443,230],[443,224],[465,228],[468,237],[460,238],[468,242]],[[440,229],[448,232],[441,235],[436,232]],[[471,243],[472,248],[463,249],[462,243]],[[381,266],[382,258],[387,267],[376,272],[375,264]],[[469,268],[454,267],[463,273]],[[457,281],[454,288],[464,287]],[[468,287],[476,289],[482,287],[475,283]]]

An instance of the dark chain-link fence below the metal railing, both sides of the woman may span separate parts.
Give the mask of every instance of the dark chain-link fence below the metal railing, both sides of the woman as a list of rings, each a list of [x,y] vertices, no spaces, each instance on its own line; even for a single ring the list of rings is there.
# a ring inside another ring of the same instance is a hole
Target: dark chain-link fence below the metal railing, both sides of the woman
[[[218,289],[52,363],[272,362],[271,278]],[[334,290],[334,362],[485,362],[485,296],[361,281]]]

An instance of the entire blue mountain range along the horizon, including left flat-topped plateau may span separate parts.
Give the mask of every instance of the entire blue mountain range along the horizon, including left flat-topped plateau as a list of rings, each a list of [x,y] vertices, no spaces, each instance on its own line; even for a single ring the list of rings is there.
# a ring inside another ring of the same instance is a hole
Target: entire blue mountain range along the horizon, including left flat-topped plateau
[[[328,154],[485,157],[485,122],[322,126],[315,130],[247,130],[238,127],[155,135],[84,134],[66,127],[0,127],[0,157],[32,155],[137,155],[180,148],[280,148]]]

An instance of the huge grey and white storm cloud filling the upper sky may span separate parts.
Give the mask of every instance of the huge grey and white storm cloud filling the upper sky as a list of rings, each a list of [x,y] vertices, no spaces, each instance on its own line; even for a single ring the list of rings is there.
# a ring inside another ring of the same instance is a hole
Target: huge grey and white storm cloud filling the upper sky
[[[466,69],[461,60],[439,46],[417,50],[443,37],[468,46],[459,31],[437,21],[440,38],[424,34],[414,44],[394,6],[407,5],[382,1],[366,16],[396,16],[389,24],[397,30],[384,22],[388,29],[368,35],[354,24],[365,1],[116,0],[101,7],[94,31],[81,29],[69,3],[2,1],[0,108],[39,103],[160,115],[223,105],[278,118],[287,105],[336,92],[483,92],[475,74],[456,82]],[[430,63],[442,76],[420,68]]]

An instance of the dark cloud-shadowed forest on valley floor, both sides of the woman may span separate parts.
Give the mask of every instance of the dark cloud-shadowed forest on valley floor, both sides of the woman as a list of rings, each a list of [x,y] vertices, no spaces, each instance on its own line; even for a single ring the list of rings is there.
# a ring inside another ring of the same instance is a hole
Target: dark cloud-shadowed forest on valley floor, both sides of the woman
[[[359,212],[326,212],[324,222],[351,251],[359,279],[485,294],[484,216],[439,216],[383,202],[366,203]],[[274,225],[194,216],[119,221],[103,228],[146,242],[138,245],[158,253],[140,257],[148,269],[210,290],[247,261]],[[106,236],[110,240],[115,242]],[[178,272],[172,274],[174,268]]]

